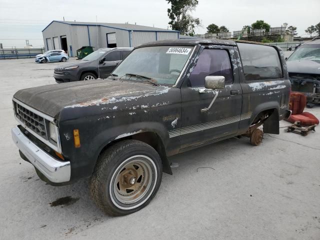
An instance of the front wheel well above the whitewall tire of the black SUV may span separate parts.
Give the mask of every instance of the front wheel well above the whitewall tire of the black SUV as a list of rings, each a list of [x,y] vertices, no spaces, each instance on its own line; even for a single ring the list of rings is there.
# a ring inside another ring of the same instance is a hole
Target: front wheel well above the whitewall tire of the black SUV
[[[159,156],[161,158],[163,171],[165,173],[172,174],[170,162],[166,157],[166,152],[165,152],[165,148],[164,148],[162,139],[160,138],[160,136],[158,134],[156,134],[155,132],[152,132],[152,131],[139,132],[139,133],[136,133],[136,134],[133,134],[130,136],[125,136],[125,137],[116,139],[114,141],[111,141],[101,149],[99,154],[101,154],[101,152],[103,152],[106,148],[110,147],[114,143],[122,141],[122,140],[126,140],[126,139],[134,139],[134,140],[143,141],[146,144],[152,146],[157,151],[157,153],[159,154]]]

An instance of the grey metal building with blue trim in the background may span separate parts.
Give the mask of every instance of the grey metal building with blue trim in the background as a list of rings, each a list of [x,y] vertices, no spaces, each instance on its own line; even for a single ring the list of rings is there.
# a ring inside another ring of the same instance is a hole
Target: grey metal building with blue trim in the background
[[[179,38],[179,31],[128,23],[51,21],[43,30],[45,50],[63,49],[76,56],[81,46],[134,47],[144,42]]]

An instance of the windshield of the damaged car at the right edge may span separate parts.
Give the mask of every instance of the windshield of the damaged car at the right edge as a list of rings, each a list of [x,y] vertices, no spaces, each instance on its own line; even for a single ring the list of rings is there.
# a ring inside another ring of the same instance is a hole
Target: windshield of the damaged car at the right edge
[[[302,45],[287,60],[320,60],[320,44]]]

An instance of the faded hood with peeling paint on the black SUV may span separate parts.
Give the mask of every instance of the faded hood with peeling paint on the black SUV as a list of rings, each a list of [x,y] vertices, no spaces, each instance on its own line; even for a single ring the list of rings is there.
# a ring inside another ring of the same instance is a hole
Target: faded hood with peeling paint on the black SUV
[[[92,80],[26,88],[17,91],[13,98],[51,117],[61,117],[61,111],[72,111],[73,118],[76,118],[83,116],[84,112],[87,115],[100,114],[123,109],[131,103],[137,105],[141,98],[141,107],[142,104],[147,107],[152,102],[163,101],[162,94],[170,88],[173,87],[143,82]]]

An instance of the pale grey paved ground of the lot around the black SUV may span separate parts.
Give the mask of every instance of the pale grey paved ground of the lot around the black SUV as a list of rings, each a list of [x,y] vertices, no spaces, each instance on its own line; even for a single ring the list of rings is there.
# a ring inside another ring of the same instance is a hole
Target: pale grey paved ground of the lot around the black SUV
[[[102,214],[87,179],[45,184],[12,142],[11,98],[54,84],[59,64],[0,60],[0,239],[320,239],[318,131],[280,128],[259,146],[231,138],[175,155],[150,204],[122,217]],[[320,117],[320,106],[305,110]]]

